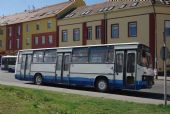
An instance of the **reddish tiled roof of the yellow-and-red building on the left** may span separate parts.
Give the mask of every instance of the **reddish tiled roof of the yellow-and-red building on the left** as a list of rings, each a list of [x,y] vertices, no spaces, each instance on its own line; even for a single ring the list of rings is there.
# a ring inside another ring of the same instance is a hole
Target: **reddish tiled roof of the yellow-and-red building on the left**
[[[75,1],[69,0],[67,2],[63,2],[60,4],[55,4],[55,5],[39,8],[39,9],[25,10],[22,13],[16,13],[14,15],[1,16],[0,25],[1,26],[10,25],[10,24],[28,22],[28,21],[57,16],[61,11],[63,11],[65,8],[67,8],[74,2]]]

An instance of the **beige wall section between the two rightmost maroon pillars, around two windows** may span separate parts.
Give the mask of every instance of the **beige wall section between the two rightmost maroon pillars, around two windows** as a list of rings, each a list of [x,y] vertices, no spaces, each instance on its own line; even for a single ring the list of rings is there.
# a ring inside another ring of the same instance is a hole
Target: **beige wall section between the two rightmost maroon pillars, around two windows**
[[[137,22],[137,37],[128,37],[128,22]],[[119,38],[111,38],[111,24],[119,24]],[[108,43],[140,42],[149,46],[149,14],[109,19]]]

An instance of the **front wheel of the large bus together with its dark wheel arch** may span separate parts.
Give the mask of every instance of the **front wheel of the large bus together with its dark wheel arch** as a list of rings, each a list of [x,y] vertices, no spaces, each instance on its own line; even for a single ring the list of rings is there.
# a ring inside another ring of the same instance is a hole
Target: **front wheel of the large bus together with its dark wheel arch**
[[[106,92],[109,89],[109,81],[106,76],[97,76],[94,86],[99,92]]]

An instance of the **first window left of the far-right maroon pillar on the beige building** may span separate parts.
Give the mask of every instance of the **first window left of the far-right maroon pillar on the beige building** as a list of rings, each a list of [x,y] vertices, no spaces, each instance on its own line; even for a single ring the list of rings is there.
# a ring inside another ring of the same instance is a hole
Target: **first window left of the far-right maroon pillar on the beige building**
[[[128,36],[136,37],[137,36],[137,22],[128,23]]]

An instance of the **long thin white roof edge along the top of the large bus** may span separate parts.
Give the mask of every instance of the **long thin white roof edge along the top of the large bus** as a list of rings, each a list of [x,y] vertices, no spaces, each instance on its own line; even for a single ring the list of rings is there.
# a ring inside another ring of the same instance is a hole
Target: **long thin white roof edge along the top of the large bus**
[[[79,48],[79,47],[94,47],[94,46],[121,46],[121,45],[139,45],[139,42],[132,42],[132,43],[114,43],[114,44],[98,44],[98,45],[84,45],[84,46],[67,46],[67,47],[52,47],[52,48],[38,48],[38,49],[24,49],[20,51],[34,51],[34,50],[48,50],[48,49],[68,49],[68,48]]]

